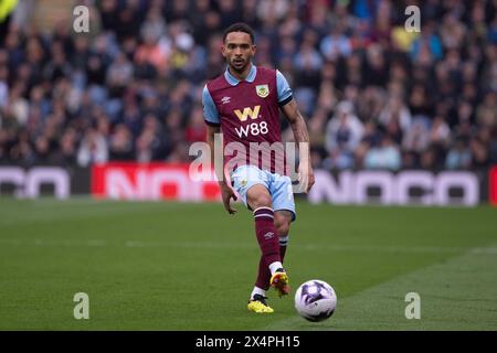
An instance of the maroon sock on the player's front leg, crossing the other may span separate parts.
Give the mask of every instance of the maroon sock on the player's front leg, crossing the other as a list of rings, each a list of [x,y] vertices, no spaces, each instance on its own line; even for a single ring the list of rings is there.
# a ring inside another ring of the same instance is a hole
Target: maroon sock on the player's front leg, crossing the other
[[[279,258],[279,242],[274,226],[274,214],[269,207],[258,207],[254,211],[255,234],[266,268]]]

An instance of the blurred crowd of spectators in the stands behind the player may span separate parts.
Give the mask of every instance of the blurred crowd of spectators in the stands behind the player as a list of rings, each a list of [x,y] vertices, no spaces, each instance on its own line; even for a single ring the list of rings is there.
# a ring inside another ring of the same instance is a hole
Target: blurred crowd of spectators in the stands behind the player
[[[22,0],[21,0],[22,1]],[[497,0],[101,0],[89,32],[10,17],[0,34],[0,164],[184,162],[222,32],[256,32],[288,79],[315,167],[497,163]],[[408,32],[405,8],[421,10]],[[282,119],[285,140],[293,133]]]

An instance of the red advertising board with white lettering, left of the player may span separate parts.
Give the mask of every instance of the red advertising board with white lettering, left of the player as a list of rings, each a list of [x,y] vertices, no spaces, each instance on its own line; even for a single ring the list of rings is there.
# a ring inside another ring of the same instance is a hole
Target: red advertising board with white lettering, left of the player
[[[92,194],[117,200],[221,200],[215,180],[199,179],[188,163],[106,163],[92,169]]]

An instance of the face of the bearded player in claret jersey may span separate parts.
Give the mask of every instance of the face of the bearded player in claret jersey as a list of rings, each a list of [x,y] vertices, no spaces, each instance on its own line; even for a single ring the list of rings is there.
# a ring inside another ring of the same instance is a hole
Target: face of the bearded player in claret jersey
[[[230,68],[242,73],[248,66],[252,56],[255,54],[255,45],[252,43],[248,33],[231,32],[226,35],[226,40],[222,46],[222,53]]]

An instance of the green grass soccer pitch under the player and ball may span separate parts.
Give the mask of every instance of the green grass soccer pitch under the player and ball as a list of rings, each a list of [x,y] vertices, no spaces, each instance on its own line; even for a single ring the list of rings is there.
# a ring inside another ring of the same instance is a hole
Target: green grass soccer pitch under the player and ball
[[[338,296],[327,321],[246,310],[258,264],[241,204],[0,200],[0,330],[497,330],[497,208],[297,203],[285,264]],[[89,320],[76,320],[76,292]],[[408,320],[417,292],[421,319]]]

